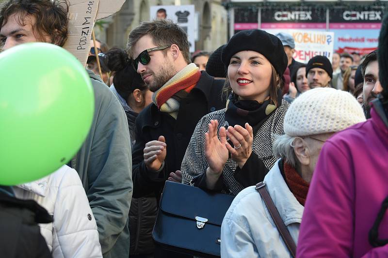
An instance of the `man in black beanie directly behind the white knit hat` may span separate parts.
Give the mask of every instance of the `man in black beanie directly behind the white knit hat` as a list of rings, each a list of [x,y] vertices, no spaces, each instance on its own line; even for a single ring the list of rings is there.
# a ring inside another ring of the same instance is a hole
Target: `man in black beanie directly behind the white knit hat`
[[[330,61],[324,56],[315,56],[307,62],[306,77],[311,89],[330,87],[333,78],[333,68]]]

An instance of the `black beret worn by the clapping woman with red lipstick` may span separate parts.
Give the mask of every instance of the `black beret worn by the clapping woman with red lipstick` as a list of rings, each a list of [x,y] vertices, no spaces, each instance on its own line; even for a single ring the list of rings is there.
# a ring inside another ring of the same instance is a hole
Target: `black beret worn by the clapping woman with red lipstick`
[[[287,68],[288,59],[278,37],[264,30],[242,30],[230,38],[222,50],[222,62],[228,67],[232,56],[240,51],[251,50],[262,54],[274,66],[281,77]]]

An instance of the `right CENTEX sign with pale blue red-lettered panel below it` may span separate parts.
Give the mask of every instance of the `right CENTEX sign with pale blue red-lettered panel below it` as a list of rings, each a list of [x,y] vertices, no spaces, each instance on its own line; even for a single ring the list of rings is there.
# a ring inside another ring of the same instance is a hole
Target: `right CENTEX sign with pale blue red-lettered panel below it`
[[[383,7],[376,6],[331,9],[329,31],[336,35],[335,51],[364,55],[376,49],[383,15]]]

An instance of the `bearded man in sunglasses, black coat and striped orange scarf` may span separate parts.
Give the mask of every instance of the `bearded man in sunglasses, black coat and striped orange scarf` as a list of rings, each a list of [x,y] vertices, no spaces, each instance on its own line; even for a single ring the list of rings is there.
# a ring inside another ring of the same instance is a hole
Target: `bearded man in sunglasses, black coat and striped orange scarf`
[[[181,182],[180,165],[195,125],[225,108],[224,80],[199,71],[190,61],[186,33],[169,20],[144,22],[132,30],[127,50],[134,69],[154,92],[153,103],[136,120],[133,196],[154,193],[159,200],[166,180]]]

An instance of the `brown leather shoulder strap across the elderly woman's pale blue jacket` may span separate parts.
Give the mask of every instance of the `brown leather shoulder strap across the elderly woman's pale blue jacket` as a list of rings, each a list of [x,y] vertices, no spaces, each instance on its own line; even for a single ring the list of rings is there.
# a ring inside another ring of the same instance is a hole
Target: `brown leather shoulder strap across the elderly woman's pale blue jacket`
[[[267,206],[267,209],[270,212],[271,217],[275,222],[276,228],[279,231],[280,236],[282,237],[284,243],[286,244],[287,249],[290,251],[291,257],[294,258],[296,254],[296,244],[293,241],[290,232],[286,228],[286,225],[284,225],[284,221],[280,217],[280,214],[276,209],[274,201],[272,200],[270,194],[268,193],[265,182],[259,182],[258,184],[256,184],[255,189],[258,190],[260,196],[263,198],[265,206]]]

